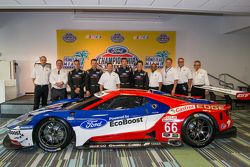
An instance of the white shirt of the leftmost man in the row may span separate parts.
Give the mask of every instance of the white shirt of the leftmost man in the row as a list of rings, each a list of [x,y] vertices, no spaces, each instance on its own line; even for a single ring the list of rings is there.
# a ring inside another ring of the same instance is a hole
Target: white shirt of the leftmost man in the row
[[[50,68],[36,65],[32,71],[31,78],[34,78],[36,85],[49,85]]]

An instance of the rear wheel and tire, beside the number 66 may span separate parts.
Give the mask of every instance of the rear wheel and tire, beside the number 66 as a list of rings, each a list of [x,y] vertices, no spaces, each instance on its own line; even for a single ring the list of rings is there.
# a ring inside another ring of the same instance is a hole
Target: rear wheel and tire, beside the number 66
[[[190,115],[182,125],[182,139],[192,147],[205,147],[215,136],[212,119],[203,113]]]

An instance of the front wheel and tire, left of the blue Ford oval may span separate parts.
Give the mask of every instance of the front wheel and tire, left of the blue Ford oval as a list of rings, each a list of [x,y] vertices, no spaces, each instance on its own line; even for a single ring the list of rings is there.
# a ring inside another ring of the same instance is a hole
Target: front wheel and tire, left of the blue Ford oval
[[[67,147],[72,140],[72,128],[59,118],[46,118],[36,126],[34,138],[37,145],[48,152],[57,152]]]

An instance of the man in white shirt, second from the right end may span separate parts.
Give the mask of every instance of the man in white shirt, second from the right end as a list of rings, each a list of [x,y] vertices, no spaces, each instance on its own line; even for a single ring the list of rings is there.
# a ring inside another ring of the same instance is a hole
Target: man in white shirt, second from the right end
[[[192,86],[192,73],[191,70],[184,66],[184,59],[178,59],[178,83],[176,88],[176,94],[188,96],[188,92],[191,91]]]

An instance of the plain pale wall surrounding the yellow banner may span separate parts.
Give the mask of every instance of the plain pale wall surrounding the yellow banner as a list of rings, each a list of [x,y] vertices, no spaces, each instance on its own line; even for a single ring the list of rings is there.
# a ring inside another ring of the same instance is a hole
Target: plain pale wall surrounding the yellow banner
[[[19,94],[33,91],[30,75],[39,56],[46,55],[54,68],[57,29],[177,31],[177,58],[184,57],[187,66],[199,59],[212,75],[226,72],[250,83],[250,33],[221,34],[220,16],[168,15],[164,22],[72,17],[71,12],[0,13],[0,59],[17,60]]]

